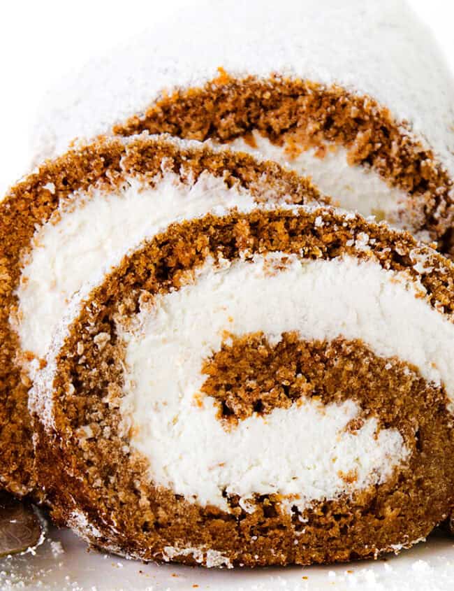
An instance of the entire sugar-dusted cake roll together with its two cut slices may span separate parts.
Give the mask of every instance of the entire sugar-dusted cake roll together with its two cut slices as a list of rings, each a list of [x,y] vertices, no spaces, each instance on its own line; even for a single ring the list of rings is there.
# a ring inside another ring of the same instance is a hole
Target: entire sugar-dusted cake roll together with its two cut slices
[[[191,6],[91,64],[37,135],[73,149],[0,203],[3,487],[140,560],[424,539],[454,500],[454,267],[418,241],[454,254],[453,90],[395,0]]]

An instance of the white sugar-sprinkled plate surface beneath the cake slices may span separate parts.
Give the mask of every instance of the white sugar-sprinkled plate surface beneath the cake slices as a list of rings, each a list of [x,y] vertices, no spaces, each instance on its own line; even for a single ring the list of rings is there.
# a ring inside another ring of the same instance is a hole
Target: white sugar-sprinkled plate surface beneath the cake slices
[[[36,555],[0,561],[1,591],[453,591],[454,538],[441,532],[398,556],[326,567],[204,569],[87,552],[51,528]]]

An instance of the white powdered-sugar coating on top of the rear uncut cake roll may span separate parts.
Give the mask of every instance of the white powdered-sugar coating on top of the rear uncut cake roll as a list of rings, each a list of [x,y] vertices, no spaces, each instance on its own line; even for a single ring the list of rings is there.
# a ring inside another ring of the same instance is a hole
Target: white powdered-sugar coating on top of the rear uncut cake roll
[[[453,76],[404,0],[199,1],[61,80],[41,108],[35,153],[108,131],[163,91],[215,78],[219,67],[368,94],[454,171]]]

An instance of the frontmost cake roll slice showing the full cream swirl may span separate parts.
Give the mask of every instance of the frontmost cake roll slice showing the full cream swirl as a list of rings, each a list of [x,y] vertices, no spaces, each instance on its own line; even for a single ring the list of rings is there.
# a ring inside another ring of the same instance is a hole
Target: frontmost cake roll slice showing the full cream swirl
[[[453,281],[410,234],[328,206],[168,225],[73,298],[36,375],[52,517],[207,567],[425,538],[453,503]]]

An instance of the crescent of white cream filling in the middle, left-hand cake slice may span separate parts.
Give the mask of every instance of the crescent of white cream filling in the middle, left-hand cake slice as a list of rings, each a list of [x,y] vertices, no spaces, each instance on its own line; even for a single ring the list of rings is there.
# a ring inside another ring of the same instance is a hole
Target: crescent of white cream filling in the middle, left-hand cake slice
[[[272,194],[270,194],[272,199]],[[196,218],[217,207],[251,207],[251,194],[228,188],[203,173],[192,186],[166,173],[156,187],[130,178],[122,190],[75,195],[34,236],[17,289],[13,323],[22,350],[44,357],[69,299],[94,276],[110,271],[125,253],[171,222]]]

